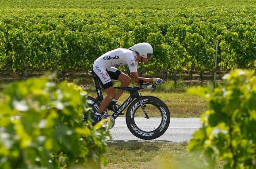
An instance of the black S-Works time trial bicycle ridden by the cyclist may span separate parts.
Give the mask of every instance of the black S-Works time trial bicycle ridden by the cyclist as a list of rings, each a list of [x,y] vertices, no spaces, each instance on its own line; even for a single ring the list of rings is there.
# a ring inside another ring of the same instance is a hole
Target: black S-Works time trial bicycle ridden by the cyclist
[[[91,71],[88,73],[92,74]],[[99,109],[100,103],[103,101],[102,88],[99,85],[98,78],[92,74],[96,87],[97,97],[87,96],[87,103],[92,107],[93,112]],[[153,140],[164,134],[170,123],[170,112],[166,104],[154,96],[141,96],[139,93],[142,89],[156,90],[156,84],[145,83],[138,84],[135,87],[114,87],[115,89],[123,89],[130,92],[130,96],[122,103],[113,114],[107,114],[104,110],[104,118],[111,119],[111,128],[115,125],[115,119],[126,110],[126,125],[130,132],[143,140]],[[88,114],[84,114],[84,120],[87,120]]]

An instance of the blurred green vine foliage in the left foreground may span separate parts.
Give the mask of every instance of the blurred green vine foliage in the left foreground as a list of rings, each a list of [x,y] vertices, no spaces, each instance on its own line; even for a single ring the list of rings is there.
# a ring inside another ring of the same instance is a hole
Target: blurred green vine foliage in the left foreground
[[[99,168],[109,131],[92,127],[86,92],[75,84],[55,84],[51,76],[15,82],[0,103],[1,169]],[[19,114],[20,118],[14,118]]]

